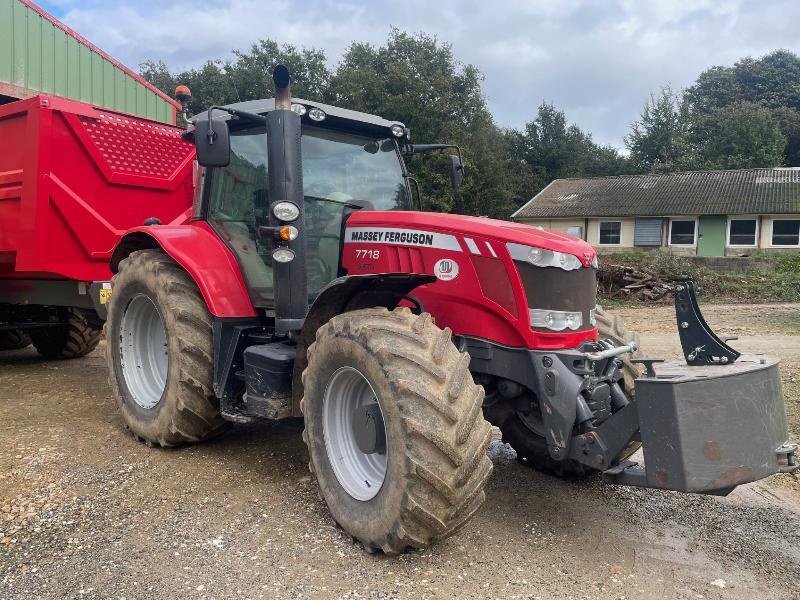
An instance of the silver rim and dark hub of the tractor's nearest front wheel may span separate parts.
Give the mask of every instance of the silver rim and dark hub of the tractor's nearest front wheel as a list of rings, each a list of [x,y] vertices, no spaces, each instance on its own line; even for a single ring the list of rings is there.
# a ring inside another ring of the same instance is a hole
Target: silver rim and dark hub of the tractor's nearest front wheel
[[[372,386],[357,369],[342,367],[322,403],[325,450],[336,479],[356,500],[371,500],[386,478],[387,456],[383,412]]]

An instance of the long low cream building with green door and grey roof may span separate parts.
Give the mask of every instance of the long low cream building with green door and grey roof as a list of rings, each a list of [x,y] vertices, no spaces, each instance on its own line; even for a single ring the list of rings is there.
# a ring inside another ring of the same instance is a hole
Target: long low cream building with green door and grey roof
[[[800,169],[557,179],[511,217],[608,252],[799,250]]]

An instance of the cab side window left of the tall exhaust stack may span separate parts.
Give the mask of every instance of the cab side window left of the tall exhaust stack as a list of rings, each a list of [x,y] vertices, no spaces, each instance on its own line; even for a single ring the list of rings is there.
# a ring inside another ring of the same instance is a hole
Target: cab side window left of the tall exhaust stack
[[[273,298],[269,242],[257,233],[265,225],[267,198],[267,136],[263,129],[231,135],[231,162],[210,172],[208,222],[236,255],[255,306]]]

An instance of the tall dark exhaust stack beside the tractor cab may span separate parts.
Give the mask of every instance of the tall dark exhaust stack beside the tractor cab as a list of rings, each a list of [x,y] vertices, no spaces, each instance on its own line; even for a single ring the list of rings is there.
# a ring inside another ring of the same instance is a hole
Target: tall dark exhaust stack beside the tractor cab
[[[275,332],[278,335],[298,331],[308,312],[306,274],[305,209],[303,206],[303,165],[300,154],[300,116],[291,110],[292,93],[289,70],[278,65],[272,71],[275,84],[275,110],[267,113],[269,219],[273,227],[289,224],[275,214],[279,202],[297,206],[299,216],[291,221],[298,235],[294,240],[276,240],[273,253],[289,249],[294,254],[288,262],[272,262],[275,296]],[[282,252],[282,256],[291,256]]]

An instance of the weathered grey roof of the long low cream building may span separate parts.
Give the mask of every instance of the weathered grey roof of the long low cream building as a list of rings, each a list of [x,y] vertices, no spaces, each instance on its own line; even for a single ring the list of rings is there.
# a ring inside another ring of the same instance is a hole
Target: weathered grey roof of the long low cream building
[[[512,216],[646,217],[800,213],[800,169],[556,179]]]

